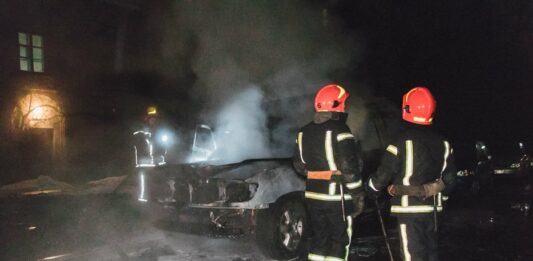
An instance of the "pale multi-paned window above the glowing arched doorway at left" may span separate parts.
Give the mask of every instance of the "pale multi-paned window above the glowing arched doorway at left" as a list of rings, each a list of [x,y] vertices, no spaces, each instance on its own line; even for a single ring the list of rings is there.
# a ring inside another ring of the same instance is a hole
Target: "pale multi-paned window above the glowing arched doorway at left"
[[[21,71],[44,72],[42,36],[19,33],[19,61]]]

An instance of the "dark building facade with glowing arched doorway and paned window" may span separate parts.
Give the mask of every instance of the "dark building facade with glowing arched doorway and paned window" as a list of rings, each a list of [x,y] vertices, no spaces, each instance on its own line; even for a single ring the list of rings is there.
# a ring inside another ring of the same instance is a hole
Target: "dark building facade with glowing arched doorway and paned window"
[[[115,91],[105,79],[137,64],[130,39],[142,19],[141,4],[0,2],[0,159],[6,162],[0,183],[57,175],[72,160],[69,153],[79,154],[69,142],[79,143],[80,130],[93,124],[87,115],[105,118],[114,110],[98,100]]]

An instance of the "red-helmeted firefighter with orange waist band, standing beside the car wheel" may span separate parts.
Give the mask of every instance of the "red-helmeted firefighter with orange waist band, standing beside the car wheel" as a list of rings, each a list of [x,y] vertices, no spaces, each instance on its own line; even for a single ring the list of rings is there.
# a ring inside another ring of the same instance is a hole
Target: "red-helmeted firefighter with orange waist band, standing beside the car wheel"
[[[307,177],[305,202],[313,232],[308,260],[347,260],[352,220],[363,210],[359,146],[344,112],[348,96],[339,85],[322,87],[314,119],[296,139],[294,167]]]

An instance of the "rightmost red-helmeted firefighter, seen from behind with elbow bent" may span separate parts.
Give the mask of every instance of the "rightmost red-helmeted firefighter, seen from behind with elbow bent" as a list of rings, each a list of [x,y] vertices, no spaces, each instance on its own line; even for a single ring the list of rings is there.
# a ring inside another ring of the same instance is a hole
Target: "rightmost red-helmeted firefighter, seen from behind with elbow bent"
[[[438,260],[437,212],[443,194],[455,184],[450,143],[431,128],[436,102],[425,87],[403,96],[402,118],[407,128],[388,145],[376,173],[370,175],[367,195],[387,188],[391,214],[398,219],[403,260]],[[391,184],[392,182],[392,184]]]

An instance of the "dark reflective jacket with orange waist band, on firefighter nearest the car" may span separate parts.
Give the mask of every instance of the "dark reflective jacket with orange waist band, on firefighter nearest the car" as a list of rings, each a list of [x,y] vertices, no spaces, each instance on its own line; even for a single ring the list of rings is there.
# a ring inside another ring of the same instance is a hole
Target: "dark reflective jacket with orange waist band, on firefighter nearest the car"
[[[340,202],[340,183],[345,200],[362,192],[360,149],[346,118],[346,113],[318,112],[298,132],[293,161],[296,171],[307,176],[307,200]]]

